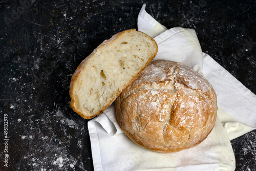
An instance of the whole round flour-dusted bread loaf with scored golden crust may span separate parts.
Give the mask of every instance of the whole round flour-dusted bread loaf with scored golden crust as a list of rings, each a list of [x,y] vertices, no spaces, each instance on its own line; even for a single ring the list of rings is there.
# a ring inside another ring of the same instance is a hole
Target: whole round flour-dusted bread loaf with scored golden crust
[[[211,84],[181,63],[152,61],[116,99],[124,133],[151,151],[193,147],[213,129],[217,98]]]

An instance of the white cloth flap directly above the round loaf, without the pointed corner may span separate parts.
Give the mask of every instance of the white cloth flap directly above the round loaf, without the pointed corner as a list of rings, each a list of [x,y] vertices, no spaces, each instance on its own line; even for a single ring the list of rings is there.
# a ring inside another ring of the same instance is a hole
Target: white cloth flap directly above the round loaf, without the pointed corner
[[[154,39],[158,44],[158,53],[154,60],[167,59],[181,62],[183,65],[201,73],[203,53],[195,30],[181,27],[172,28]]]

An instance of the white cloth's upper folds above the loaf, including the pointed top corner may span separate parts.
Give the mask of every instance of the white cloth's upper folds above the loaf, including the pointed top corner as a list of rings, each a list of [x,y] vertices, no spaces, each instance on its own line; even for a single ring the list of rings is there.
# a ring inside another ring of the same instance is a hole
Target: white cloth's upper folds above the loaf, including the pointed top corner
[[[181,27],[167,29],[148,14],[145,7],[146,5],[143,4],[138,15],[138,31],[142,31],[156,40],[158,53],[154,60],[168,59],[181,62],[201,73],[203,53],[195,30]]]

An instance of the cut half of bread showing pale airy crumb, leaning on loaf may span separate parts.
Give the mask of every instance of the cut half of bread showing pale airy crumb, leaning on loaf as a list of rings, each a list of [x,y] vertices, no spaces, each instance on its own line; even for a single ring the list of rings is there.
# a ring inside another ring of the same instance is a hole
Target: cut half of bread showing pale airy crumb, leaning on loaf
[[[136,29],[115,34],[84,59],[71,78],[70,106],[85,119],[103,112],[158,52],[156,41]]]

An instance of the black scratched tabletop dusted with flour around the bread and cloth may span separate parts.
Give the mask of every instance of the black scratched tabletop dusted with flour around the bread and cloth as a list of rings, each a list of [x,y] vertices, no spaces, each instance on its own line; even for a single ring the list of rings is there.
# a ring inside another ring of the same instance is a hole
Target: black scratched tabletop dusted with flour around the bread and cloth
[[[256,93],[256,1],[1,1],[0,170],[93,170],[88,120],[69,106],[70,79],[104,39],[137,28],[143,3],[168,29],[195,29],[203,52]],[[255,134],[231,141],[236,170],[255,170]]]

